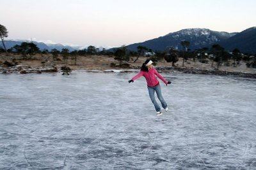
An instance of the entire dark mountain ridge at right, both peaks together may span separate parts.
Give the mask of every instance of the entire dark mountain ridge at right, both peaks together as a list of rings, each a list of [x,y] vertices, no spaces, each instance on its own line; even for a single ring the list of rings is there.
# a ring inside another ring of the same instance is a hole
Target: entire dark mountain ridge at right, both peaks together
[[[251,27],[242,32],[219,32],[204,28],[182,29],[177,32],[171,32],[159,38],[150,39],[142,43],[128,45],[129,50],[136,51],[137,46],[146,46],[153,51],[163,51],[166,48],[176,48],[182,50],[180,41],[189,41],[189,49],[211,48],[214,44],[219,44],[225,50],[232,51],[238,48],[244,53],[256,53],[256,27]]]

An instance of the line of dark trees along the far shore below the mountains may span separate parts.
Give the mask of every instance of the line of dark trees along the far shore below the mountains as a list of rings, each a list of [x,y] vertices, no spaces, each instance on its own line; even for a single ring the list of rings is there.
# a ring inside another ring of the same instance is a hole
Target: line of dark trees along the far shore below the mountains
[[[154,63],[157,63],[158,60],[166,60],[166,62],[172,62],[172,66],[175,66],[175,63],[179,60],[179,57],[182,58],[182,66],[188,59],[199,60],[199,62],[207,63],[211,62],[213,67],[216,64],[217,69],[220,66],[240,66],[241,60],[246,62],[247,67],[256,67],[256,57],[250,53],[242,53],[238,48],[232,50],[232,52],[227,52],[222,46],[215,44],[211,48],[200,48],[196,50],[190,50],[189,41],[180,41],[182,50],[176,50],[175,48],[168,47],[163,51],[155,51],[147,48],[147,46],[137,46],[136,51],[131,51],[127,46],[123,45],[119,48],[115,48],[113,51],[106,50],[103,48],[100,50],[95,46],[88,46],[83,50],[74,50],[70,51],[68,48],[63,48],[61,51],[56,48],[52,50],[40,50],[35,43],[33,42],[23,42],[21,45],[15,45],[12,48],[6,50],[4,45],[4,38],[8,37],[8,31],[4,25],[0,25],[0,37],[4,48],[0,48],[0,52],[9,52],[9,53],[19,53],[24,59],[35,55],[35,53],[47,54],[51,53],[54,60],[58,58],[58,55],[62,55],[63,60],[67,60],[68,57],[72,57],[74,60],[77,59],[77,56],[86,56],[86,55],[109,55],[114,56],[115,60],[118,60],[120,64],[122,62],[128,62],[129,60],[135,57],[133,62],[136,62],[139,57],[147,56],[149,59],[153,60]]]

